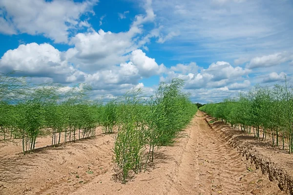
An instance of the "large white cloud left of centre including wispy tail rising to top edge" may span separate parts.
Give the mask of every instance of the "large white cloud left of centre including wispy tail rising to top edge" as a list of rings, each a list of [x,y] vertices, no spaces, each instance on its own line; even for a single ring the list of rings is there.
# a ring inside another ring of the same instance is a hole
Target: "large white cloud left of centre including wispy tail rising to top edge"
[[[72,37],[69,43],[75,47],[66,52],[66,59],[79,68],[97,71],[126,62],[131,57],[133,58],[130,53],[140,47],[147,50],[145,44],[152,36],[152,32],[141,38],[143,24],[154,21],[155,15],[151,8],[151,0],[146,0],[143,7],[146,14],[136,15],[127,32],[112,33],[102,29],[96,32],[90,29],[86,33],[79,33]],[[142,69],[140,70],[142,72]],[[147,75],[149,76],[150,73]]]

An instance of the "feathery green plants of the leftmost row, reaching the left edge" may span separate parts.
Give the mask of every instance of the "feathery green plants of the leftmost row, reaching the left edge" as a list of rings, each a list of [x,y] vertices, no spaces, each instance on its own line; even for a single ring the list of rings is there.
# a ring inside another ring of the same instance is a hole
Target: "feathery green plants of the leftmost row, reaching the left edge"
[[[0,74],[2,140],[21,138],[25,153],[35,149],[38,137],[51,134],[55,145],[63,132],[64,142],[95,135],[101,106],[88,100],[90,87],[81,84],[68,90],[55,83],[32,85],[24,77],[12,76]]]

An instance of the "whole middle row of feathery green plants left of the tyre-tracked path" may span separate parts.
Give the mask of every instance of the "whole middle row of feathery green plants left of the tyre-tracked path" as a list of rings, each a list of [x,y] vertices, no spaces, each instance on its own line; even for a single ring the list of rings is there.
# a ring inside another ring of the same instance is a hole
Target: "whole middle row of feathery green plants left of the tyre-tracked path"
[[[154,150],[171,145],[197,111],[197,106],[183,94],[183,80],[161,83],[155,96],[146,100],[141,90],[126,93],[117,100],[117,134],[114,161],[122,171],[126,183],[129,171],[135,174],[145,170],[154,160]],[[145,152],[148,148],[148,152]]]

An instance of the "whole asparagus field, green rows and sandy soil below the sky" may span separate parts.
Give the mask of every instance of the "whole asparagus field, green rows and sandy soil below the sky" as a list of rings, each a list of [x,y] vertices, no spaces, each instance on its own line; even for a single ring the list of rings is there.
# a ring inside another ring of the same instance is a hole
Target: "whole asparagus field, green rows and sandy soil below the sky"
[[[293,161],[276,147],[292,153],[287,85],[202,106],[209,117],[181,79],[106,101],[12,76],[0,75],[0,194],[293,194]],[[260,148],[267,137],[274,147]]]

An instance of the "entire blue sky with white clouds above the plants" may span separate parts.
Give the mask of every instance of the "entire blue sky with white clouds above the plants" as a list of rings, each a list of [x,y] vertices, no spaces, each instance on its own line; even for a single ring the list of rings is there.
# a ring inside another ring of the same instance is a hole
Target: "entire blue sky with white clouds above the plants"
[[[293,0],[0,0],[0,72],[115,98],[185,80],[193,102],[293,82]]]

